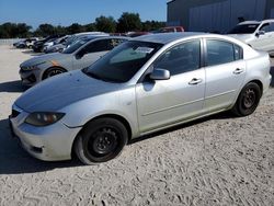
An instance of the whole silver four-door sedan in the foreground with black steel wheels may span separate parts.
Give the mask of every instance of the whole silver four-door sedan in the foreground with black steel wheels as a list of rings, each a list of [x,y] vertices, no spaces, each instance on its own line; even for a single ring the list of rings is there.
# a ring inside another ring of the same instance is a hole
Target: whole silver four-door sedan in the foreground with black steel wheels
[[[237,39],[155,34],[117,46],[90,67],[27,90],[11,126],[41,160],[105,162],[133,138],[231,110],[253,113],[271,82],[270,58]]]

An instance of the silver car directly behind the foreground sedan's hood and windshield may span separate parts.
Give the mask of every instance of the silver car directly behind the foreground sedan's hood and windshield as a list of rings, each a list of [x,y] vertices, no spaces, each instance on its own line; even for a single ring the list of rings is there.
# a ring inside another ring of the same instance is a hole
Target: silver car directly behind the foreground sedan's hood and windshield
[[[87,36],[62,53],[33,57],[20,65],[22,84],[31,87],[49,77],[88,67],[126,39],[128,37]]]

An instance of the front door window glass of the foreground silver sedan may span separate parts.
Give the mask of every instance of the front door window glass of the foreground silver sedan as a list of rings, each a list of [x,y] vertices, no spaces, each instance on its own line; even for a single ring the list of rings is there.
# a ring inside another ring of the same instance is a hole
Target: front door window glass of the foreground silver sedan
[[[191,41],[167,50],[153,64],[153,68],[167,69],[171,76],[199,68],[201,43]]]

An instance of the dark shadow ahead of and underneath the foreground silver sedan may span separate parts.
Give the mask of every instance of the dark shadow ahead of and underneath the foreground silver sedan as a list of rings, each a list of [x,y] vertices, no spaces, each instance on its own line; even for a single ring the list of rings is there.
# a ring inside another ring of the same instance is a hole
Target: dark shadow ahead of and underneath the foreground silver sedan
[[[128,145],[144,141],[146,139],[150,139],[150,138],[153,138],[153,137],[167,134],[167,133],[182,129],[184,127],[197,125],[197,124],[204,123],[213,118],[222,119],[222,118],[229,118],[229,117],[231,117],[229,113],[221,113],[218,115],[213,115],[213,116],[205,117],[198,121],[194,121],[192,123],[186,123],[186,124],[182,124],[179,126],[174,126],[169,129],[163,129],[152,135],[147,135],[147,136],[133,139],[128,142]],[[0,175],[1,174],[35,173],[35,172],[44,172],[44,171],[61,169],[61,168],[83,167],[83,164],[75,156],[72,157],[72,160],[57,161],[57,162],[41,161],[31,157],[21,147],[20,140],[15,137],[12,137],[10,133],[10,126],[9,126],[8,119],[0,121],[0,134],[1,134],[0,136]]]

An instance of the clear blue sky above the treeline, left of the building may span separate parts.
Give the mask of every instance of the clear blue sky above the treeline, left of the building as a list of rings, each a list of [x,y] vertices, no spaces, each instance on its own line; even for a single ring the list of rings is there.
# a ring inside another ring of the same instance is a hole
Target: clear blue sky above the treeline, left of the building
[[[123,12],[139,13],[141,21],[167,21],[167,0],[0,0],[0,24],[88,24],[100,15],[117,20]]]

